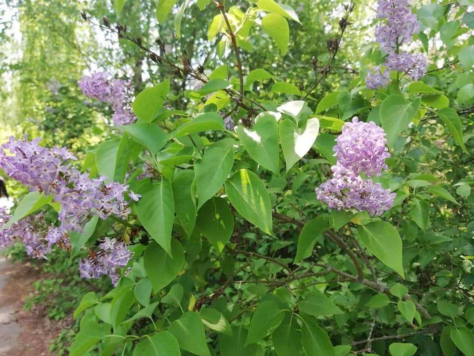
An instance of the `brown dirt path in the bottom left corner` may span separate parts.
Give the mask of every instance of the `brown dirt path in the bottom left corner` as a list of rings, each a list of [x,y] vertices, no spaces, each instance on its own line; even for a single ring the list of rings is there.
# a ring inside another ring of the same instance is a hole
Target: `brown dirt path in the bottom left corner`
[[[29,264],[10,264],[0,255],[0,356],[42,356],[61,331],[41,308],[23,311],[25,297],[40,278]]]

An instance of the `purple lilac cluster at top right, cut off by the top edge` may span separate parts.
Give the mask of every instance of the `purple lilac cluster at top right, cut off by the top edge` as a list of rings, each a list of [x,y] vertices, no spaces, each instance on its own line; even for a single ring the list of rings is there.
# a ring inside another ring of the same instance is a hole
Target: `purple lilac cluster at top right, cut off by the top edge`
[[[377,18],[387,18],[387,23],[377,25],[375,38],[388,56],[385,68],[379,65],[367,73],[365,84],[368,89],[387,88],[392,71],[406,74],[410,80],[419,80],[426,73],[428,63],[424,55],[400,52],[401,45],[411,43],[413,35],[419,31],[418,20],[408,7],[409,2],[378,0]]]

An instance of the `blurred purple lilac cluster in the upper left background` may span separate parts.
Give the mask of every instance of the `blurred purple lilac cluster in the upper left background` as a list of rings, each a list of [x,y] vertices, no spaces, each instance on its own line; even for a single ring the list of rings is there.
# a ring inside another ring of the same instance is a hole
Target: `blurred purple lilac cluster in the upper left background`
[[[90,98],[98,99],[112,105],[115,125],[129,125],[136,121],[130,106],[126,103],[130,96],[130,82],[111,78],[107,72],[94,73],[90,77],[82,76],[78,82],[82,92]]]

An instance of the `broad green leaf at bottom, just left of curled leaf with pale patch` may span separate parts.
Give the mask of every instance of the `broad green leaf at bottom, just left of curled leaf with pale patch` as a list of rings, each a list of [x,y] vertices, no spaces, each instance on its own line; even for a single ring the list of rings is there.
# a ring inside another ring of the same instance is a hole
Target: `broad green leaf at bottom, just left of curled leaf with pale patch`
[[[178,340],[179,347],[199,356],[210,356],[201,318],[195,312],[186,312],[168,327]]]

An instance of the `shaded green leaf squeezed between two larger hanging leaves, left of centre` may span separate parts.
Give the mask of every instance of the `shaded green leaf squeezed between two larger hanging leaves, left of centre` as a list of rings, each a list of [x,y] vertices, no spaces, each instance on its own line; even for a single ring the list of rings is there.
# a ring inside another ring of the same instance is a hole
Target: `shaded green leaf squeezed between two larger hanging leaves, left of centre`
[[[181,171],[173,177],[171,182],[176,216],[188,237],[191,236],[196,225],[196,199],[191,190],[194,175],[192,170]]]

